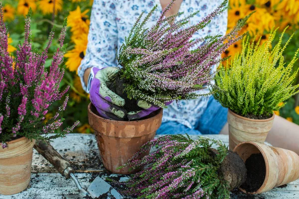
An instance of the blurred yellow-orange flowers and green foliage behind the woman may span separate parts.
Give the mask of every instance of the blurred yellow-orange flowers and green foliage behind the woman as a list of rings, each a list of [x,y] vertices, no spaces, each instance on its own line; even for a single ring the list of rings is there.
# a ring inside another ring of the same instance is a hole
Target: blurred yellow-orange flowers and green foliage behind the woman
[[[80,80],[76,74],[81,60],[84,58],[87,46],[87,34],[89,30],[89,16],[93,0],[1,0],[4,9],[5,22],[10,31],[9,51],[14,52],[12,46],[17,46],[19,41],[23,40],[24,17],[29,9],[32,8],[32,40],[35,48],[41,50],[46,45],[47,35],[52,25],[57,25],[57,34],[63,24],[65,17],[68,17],[68,31],[65,40],[66,55],[65,64],[67,71],[62,81],[61,87],[70,85],[70,100],[68,107],[63,113],[66,119],[61,129],[72,125],[76,120],[81,123],[75,129],[75,132],[90,133],[88,125],[86,107],[90,102],[89,96],[83,91]],[[290,34],[295,32],[294,39],[285,51],[285,60],[287,63],[292,59],[292,55],[299,46],[299,0],[229,0],[228,29],[232,28],[239,19],[246,16],[253,10],[256,12],[249,19],[249,22],[241,31],[249,31],[251,36],[257,35],[267,38],[273,27],[280,27],[282,31],[287,25],[290,25],[285,41]],[[55,12],[53,13],[53,10]],[[279,32],[278,32],[279,33]],[[274,41],[277,42],[277,41]],[[49,57],[52,57],[58,41],[54,40],[52,48],[49,51]],[[232,45],[223,54],[223,57],[233,56],[241,51],[241,43]],[[47,61],[47,67],[50,66],[51,59]],[[295,68],[299,67],[299,62]],[[299,82],[299,77],[296,79]],[[299,96],[285,101],[287,104],[281,109],[280,114],[289,120],[299,124]],[[52,112],[56,112],[60,103],[53,104]],[[49,112],[47,118],[51,118],[53,113]]]

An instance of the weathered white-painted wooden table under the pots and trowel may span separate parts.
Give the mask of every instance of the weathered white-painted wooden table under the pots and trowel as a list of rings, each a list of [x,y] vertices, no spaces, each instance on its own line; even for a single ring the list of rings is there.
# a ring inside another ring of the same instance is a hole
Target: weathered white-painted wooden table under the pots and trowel
[[[228,145],[227,135],[206,135],[220,139]],[[197,136],[191,136],[196,139]],[[69,134],[56,139],[53,147],[76,169],[82,187],[87,189],[95,177],[100,176],[124,180],[126,176],[110,174],[101,164],[99,150],[94,135]],[[28,189],[13,196],[0,195],[0,199],[76,199],[78,190],[71,179],[65,179],[35,150],[32,161],[31,184]],[[233,198],[238,198],[233,196]],[[276,188],[256,196],[241,196],[240,199],[299,199],[299,180],[285,188]]]

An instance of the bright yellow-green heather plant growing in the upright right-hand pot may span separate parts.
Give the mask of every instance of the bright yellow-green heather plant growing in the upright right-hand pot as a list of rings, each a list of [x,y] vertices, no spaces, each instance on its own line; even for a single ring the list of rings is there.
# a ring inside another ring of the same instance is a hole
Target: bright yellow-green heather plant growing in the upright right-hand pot
[[[231,66],[220,66],[213,93],[222,106],[245,117],[269,118],[274,110],[282,107],[279,106],[280,102],[299,92],[299,85],[293,85],[298,70],[292,73],[299,50],[286,65],[283,52],[293,35],[282,46],[284,32],[273,48],[271,43],[276,30],[271,31],[268,41],[263,45],[244,39],[243,50],[234,57]]]

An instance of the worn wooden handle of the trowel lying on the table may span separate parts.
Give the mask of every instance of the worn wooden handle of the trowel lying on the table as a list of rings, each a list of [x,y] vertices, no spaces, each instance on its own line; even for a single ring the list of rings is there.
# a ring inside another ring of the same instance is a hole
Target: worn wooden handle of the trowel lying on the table
[[[70,174],[74,173],[74,169],[71,164],[66,161],[47,141],[36,141],[34,145],[35,150],[42,155],[47,161],[49,161],[57,171],[70,178]]]

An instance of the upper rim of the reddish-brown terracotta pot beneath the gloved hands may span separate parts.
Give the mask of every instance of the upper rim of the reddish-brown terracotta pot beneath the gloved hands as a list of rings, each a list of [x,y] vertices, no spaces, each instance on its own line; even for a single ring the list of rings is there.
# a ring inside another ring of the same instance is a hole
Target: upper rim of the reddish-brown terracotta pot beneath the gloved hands
[[[137,124],[137,123],[141,123],[141,122],[143,122],[143,123],[148,123],[149,121],[152,121],[152,120],[154,120],[155,118],[158,118],[158,117],[160,117],[160,115],[161,114],[163,114],[163,108],[159,108],[159,109],[157,109],[156,110],[156,114],[154,115],[154,116],[152,116],[152,117],[149,117],[149,118],[147,118],[147,119],[142,119],[142,120],[134,120],[134,121],[120,121],[120,120],[114,120],[114,119],[106,119],[106,118],[104,118],[104,117],[101,117],[101,116],[99,116],[99,115],[97,115],[96,113],[94,113],[93,111],[92,111],[92,109],[91,109],[91,106],[92,106],[93,104],[90,102],[89,104],[88,104],[88,113],[90,114],[90,115],[92,115],[92,116],[94,116],[94,117],[96,117],[97,119],[100,119],[100,120],[102,120],[102,121],[104,121],[104,122],[114,122],[114,123],[118,123],[118,124],[125,124],[125,125],[128,125],[128,124],[132,124],[132,125],[134,125],[134,124]]]

